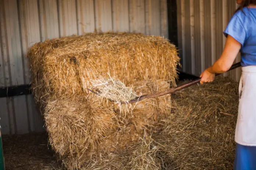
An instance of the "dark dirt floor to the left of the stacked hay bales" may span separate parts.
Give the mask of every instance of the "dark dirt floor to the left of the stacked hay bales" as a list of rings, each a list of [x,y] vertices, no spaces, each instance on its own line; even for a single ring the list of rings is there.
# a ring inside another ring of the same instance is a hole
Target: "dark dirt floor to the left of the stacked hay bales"
[[[47,134],[2,136],[6,170],[60,170]]]

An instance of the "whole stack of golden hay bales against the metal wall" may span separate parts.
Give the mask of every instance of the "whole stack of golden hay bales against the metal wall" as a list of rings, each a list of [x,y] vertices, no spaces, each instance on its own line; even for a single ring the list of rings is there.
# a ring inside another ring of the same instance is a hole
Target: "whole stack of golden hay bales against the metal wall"
[[[175,86],[179,58],[164,38],[90,33],[37,43],[28,57],[33,95],[42,108],[50,144],[68,169],[92,168],[111,154],[127,151],[170,113],[168,95],[124,111],[87,90],[93,80],[109,75],[138,95],[167,89],[170,82]]]

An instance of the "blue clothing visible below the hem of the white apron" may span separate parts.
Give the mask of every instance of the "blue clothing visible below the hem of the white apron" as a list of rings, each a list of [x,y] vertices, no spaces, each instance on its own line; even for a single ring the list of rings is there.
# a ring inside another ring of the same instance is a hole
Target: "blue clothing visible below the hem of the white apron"
[[[256,147],[237,143],[234,170],[256,170]]]

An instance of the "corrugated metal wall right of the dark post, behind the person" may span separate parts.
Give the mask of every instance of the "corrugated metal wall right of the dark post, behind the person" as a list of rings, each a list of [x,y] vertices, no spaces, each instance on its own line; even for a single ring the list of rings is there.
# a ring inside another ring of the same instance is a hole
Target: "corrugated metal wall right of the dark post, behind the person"
[[[223,31],[237,8],[235,0],[177,0],[178,47],[183,71],[200,75],[221,55]],[[237,56],[235,62],[239,62]],[[241,69],[225,73],[239,80]]]

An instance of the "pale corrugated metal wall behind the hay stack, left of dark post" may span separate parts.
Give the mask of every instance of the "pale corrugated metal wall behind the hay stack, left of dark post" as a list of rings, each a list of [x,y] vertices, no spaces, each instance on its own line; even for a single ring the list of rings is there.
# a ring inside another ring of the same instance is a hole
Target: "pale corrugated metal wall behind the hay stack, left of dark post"
[[[29,84],[26,52],[47,38],[98,31],[168,37],[167,0],[0,0],[0,86]],[[2,134],[43,131],[32,95],[0,98]]]

